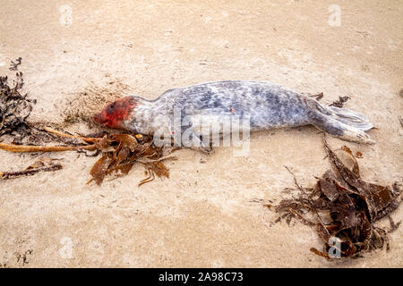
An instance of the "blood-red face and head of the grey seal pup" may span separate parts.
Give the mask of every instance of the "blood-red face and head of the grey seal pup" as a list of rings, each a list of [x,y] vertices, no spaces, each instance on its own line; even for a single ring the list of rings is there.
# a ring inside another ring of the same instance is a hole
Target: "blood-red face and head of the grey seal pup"
[[[122,97],[107,105],[99,114],[94,115],[94,122],[109,128],[124,129],[124,121],[133,113],[137,101],[133,97]]]

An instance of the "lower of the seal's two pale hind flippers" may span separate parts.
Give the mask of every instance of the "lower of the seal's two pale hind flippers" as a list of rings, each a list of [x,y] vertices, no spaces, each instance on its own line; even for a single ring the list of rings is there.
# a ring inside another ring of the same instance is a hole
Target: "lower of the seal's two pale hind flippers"
[[[339,139],[345,139],[357,143],[375,143],[375,141],[363,130],[359,130],[345,122],[338,121],[332,116],[315,113],[310,116],[310,121],[316,128],[323,130],[334,137],[338,137]]]

